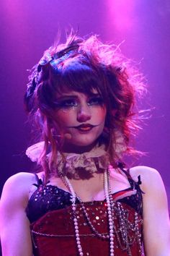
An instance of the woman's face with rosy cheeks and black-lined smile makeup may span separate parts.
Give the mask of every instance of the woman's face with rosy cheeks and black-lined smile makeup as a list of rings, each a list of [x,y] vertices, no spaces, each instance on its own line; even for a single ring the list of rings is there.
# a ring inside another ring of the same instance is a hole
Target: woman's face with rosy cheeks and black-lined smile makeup
[[[64,135],[63,151],[91,150],[102,134],[106,117],[106,106],[97,90],[90,95],[76,91],[60,93],[56,104],[55,120]]]

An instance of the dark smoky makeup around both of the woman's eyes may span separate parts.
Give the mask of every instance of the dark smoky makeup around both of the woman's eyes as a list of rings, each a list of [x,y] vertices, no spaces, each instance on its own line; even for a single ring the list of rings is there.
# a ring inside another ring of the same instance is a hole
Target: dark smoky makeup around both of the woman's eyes
[[[88,97],[86,103],[88,106],[104,106],[103,98],[100,95]],[[79,104],[79,98],[74,96],[63,96],[55,101],[56,108],[75,108]]]

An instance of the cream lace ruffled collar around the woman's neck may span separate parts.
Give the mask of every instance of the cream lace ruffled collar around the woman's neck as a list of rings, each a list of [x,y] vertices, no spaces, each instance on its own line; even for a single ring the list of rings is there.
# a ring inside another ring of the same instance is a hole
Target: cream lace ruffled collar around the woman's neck
[[[122,158],[122,154],[126,152],[127,147],[125,145],[124,137],[119,131],[115,131],[113,148],[115,148],[115,157],[117,159]],[[33,162],[37,162],[40,158],[40,154],[44,148],[44,142],[38,142],[35,145],[30,146],[26,150],[26,155]],[[50,158],[48,153],[47,158]],[[104,171],[109,166],[109,155],[105,150],[105,145],[99,144],[94,147],[91,151],[81,154],[76,153],[59,153],[56,163],[56,168],[61,171],[63,175],[67,175],[71,178],[74,176],[75,179],[79,179],[79,174],[84,175],[93,174],[97,171]],[[84,171],[82,171],[82,168]],[[56,170],[55,170],[56,171]],[[54,172],[55,172],[54,171]],[[77,174],[77,175],[76,175]],[[90,176],[89,176],[90,177]],[[83,177],[81,177],[83,179]]]

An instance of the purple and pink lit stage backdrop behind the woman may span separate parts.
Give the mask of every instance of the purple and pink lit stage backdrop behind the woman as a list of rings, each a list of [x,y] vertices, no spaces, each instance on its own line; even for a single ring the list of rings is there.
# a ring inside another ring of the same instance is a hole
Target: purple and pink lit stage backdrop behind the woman
[[[169,0],[1,0],[0,186],[12,174],[32,168],[24,156],[31,137],[23,108],[27,69],[53,43],[58,29],[70,26],[79,27],[79,35],[96,33],[105,42],[125,40],[122,53],[140,62],[150,92],[143,108],[155,109],[136,142],[148,155],[134,164],[161,172],[170,201]]]

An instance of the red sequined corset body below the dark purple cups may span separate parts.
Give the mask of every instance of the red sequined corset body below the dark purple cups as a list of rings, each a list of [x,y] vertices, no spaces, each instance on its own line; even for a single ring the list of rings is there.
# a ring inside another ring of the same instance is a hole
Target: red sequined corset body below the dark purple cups
[[[107,205],[104,201],[84,203],[93,226],[100,234],[108,234]],[[142,218],[125,203],[121,203],[123,215],[117,212],[115,202],[115,256],[141,256]],[[81,205],[76,206],[81,246],[85,255],[109,256],[109,239],[93,234],[86,221]],[[121,221],[123,225],[121,225]],[[124,229],[124,230],[123,230]],[[122,241],[123,232],[128,242]],[[78,254],[71,206],[46,213],[31,224],[35,256],[76,256]]]

